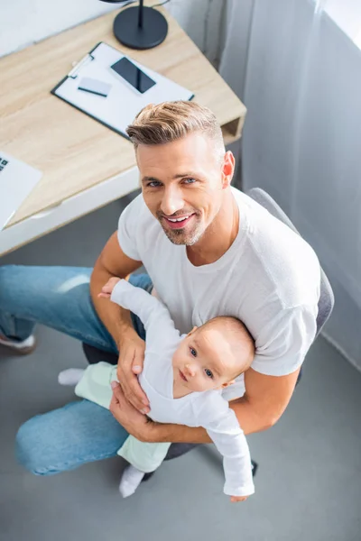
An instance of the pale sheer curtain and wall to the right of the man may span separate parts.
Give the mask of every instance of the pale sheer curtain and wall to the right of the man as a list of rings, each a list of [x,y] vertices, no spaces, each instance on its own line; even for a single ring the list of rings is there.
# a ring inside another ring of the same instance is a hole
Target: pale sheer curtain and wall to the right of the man
[[[318,254],[336,298],[326,335],[361,371],[361,49],[314,1],[230,4],[221,73],[247,107],[243,187],[264,188]]]

